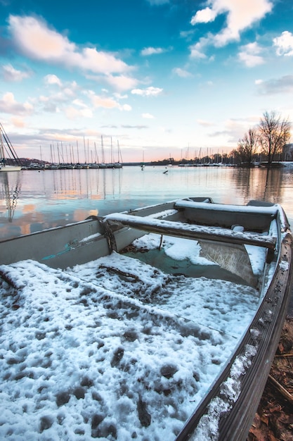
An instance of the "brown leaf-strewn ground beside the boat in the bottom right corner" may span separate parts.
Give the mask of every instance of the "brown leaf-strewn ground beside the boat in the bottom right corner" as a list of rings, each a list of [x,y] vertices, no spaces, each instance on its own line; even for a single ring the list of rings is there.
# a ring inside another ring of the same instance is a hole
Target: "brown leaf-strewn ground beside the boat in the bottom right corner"
[[[293,441],[293,318],[287,316],[247,441]]]

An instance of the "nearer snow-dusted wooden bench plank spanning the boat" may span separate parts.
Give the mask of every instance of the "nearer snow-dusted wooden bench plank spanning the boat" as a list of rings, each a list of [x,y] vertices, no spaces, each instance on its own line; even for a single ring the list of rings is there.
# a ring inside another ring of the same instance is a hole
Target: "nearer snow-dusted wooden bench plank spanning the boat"
[[[275,249],[276,237],[259,235],[253,232],[240,232],[228,228],[206,227],[202,225],[190,225],[164,219],[151,218],[148,216],[134,216],[124,213],[113,213],[105,216],[104,222],[118,223],[136,230],[155,232],[161,235],[183,237],[193,240],[211,240],[226,242],[229,244],[249,244],[256,247]]]

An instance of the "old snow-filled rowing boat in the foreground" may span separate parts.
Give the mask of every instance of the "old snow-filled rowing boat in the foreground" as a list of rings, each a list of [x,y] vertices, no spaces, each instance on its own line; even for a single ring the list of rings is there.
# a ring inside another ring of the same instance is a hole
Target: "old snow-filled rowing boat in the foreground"
[[[246,440],[292,249],[280,205],[210,197],[2,241],[0,436]]]

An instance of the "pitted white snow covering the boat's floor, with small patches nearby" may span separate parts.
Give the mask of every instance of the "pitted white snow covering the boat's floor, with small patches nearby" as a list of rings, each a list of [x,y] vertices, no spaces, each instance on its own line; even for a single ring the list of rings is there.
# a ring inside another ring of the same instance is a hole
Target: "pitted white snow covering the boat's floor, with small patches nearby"
[[[158,242],[147,235],[134,246]],[[193,240],[168,237],[163,247],[204,263]],[[259,305],[252,287],[115,252],[66,271],[35,261],[0,271],[2,440],[174,440]],[[235,363],[231,400],[246,366]]]

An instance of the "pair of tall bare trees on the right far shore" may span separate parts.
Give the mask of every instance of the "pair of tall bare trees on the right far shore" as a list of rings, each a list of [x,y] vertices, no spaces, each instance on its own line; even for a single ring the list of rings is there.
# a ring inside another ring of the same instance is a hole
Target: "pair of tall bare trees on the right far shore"
[[[237,149],[231,154],[237,162],[251,165],[256,157],[265,156],[268,168],[273,160],[282,154],[282,149],[290,139],[291,123],[276,111],[264,112],[259,124],[249,128],[239,139]]]

